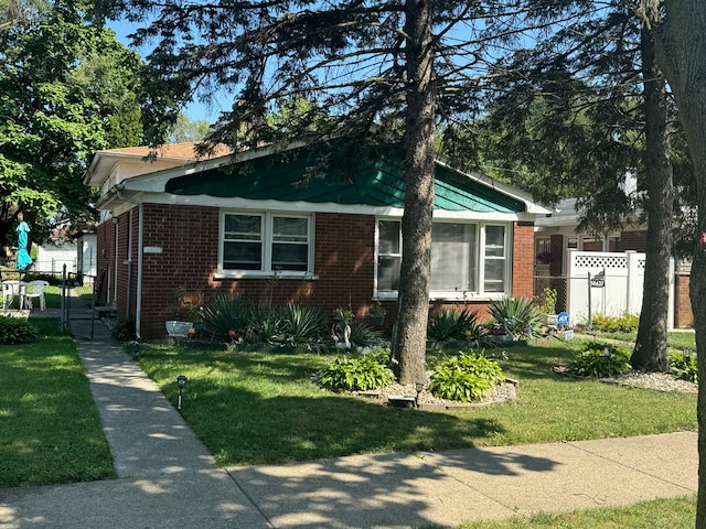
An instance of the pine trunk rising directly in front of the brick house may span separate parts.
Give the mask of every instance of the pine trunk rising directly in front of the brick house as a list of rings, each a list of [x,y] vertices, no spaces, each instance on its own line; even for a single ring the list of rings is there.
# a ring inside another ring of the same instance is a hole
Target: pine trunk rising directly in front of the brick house
[[[400,384],[426,382],[427,319],[434,212],[435,87],[428,1],[406,2],[407,119],[405,213],[397,328],[393,352]]]

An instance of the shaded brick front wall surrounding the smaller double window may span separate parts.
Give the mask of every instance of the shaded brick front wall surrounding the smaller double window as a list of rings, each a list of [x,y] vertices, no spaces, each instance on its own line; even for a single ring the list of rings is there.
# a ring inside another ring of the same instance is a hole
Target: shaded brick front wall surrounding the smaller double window
[[[161,253],[143,255],[141,334],[164,336],[164,321],[172,319],[174,292],[204,304],[220,293],[254,301],[308,303],[332,312],[352,306],[363,315],[372,306],[375,219],[361,215],[315,216],[314,273],[318,279],[216,279],[218,209],[146,204],[146,247]],[[137,227],[136,227],[137,234]],[[137,269],[137,267],[136,267]]]

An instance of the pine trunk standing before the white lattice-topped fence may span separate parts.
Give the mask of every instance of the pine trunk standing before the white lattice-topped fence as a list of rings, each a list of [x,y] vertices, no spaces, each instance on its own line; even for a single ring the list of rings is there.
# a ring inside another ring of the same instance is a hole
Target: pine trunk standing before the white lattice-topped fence
[[[673,172],[664,76],[656,64],[654,35],[642,26],[644,86],[644,173],[648,187],[648,241],[640,327],[630,363],[634,369],[668,371],[666,324],[673,224]]]

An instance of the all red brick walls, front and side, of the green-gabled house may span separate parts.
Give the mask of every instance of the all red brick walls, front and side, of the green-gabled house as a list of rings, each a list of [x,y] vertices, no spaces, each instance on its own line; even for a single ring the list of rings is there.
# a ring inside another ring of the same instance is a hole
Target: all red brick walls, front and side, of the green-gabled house
[[[163,338],[164,322],[174,317],[174,293],[182,288],[185,298],[207,303],[221,293],[243,295],[254,301],[307,303],[331,314],[335,307],[351,306],[364,316],[373,305],[375,271],[375,219],[364,215],[317,214],[314,274],[318,279],[215,278],[218,261],[218,220],[215,207],[145,204],[143,247],[161,252],[142,255],[141,336]],[[131,266],[128,251],[128,226],[132,225]],[[136,312],[138,272],[138,208],[119,218],[118,289],[120,317],[125,317],[130,291],[130,313]],[[98,268],[109,269],[110,291],[115,271],[115,225],[98,228]],[[513,228],[512,295],[532,298],[534,229],[517,223]],[[105,251],[104,251],[105,250]],[[131,277],[130,277],[131,267]],[[128,287],[128,284],[130,287]],[[386,327],[395,319],[395,303],[383,302],[387,310]],[[471,304],[481,315],[486,304]]]

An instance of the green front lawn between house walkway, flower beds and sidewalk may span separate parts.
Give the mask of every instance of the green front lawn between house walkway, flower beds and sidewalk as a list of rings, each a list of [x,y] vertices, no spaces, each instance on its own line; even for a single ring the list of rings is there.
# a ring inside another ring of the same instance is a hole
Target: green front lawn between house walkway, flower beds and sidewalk
[[[512,347],[501,360],[517,400],[470,411],[387,408],[319,389],[309,377],[332,355],[227,353],[143,344],[140,365],[176,402],[218,464],[447,450],[696,430],[696,396],[557,376],[577,343]],[[434,358],[430,358],[432,361]]]

